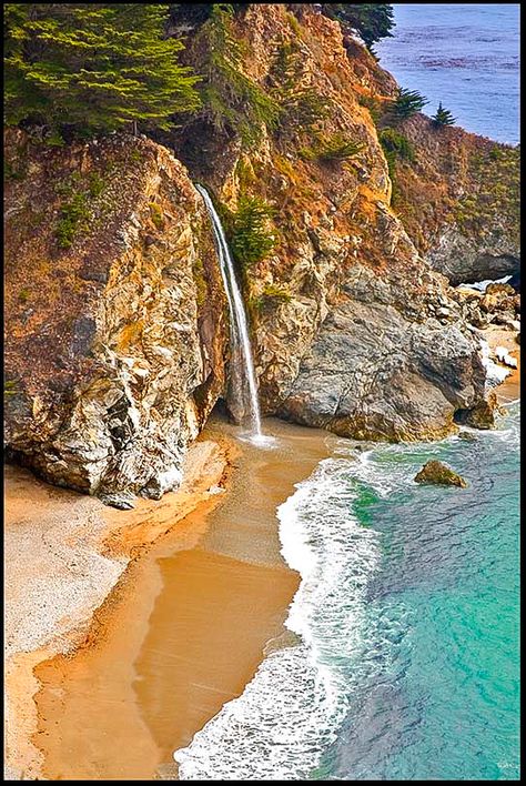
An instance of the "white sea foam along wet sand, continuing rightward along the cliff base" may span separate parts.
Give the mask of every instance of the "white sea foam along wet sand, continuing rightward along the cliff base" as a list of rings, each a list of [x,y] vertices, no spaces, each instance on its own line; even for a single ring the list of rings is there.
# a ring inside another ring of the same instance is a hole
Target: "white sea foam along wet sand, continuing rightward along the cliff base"
[[[518,441],[519,405],[479,439]],[[174,753],[181,780],[312,779],[337,737],[364,673],[388,674],[409,611],[385,607],[372,625],[367,593],[380,567],[380,534],[353,514],[356,482],[385,497],[413,484],[429,455],[456,444],[382,445],[356,455],[338,441],[277,510],[282,552],[302,582],[286,626],[300,644],[274,649],[244,693],[229,702],[186,748]],[[399,460],[393,461],[394,455]],[[372,615],[373,619],[375,614]]]

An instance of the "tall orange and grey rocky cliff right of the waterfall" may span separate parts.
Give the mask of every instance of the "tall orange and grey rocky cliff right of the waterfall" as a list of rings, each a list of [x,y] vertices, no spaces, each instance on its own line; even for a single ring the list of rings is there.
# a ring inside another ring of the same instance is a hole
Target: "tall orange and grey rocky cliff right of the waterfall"
[[[365,104],[396,83],[308,7],[300,33],[279,4],[250,6],[234,28],[255,83],[280,97],[286,74],[275,63],[286,51],[301,61],[297,92],[330,105],[310,134],[291,133],[285,115],[249,147],[224,132],[219,152],[206,119],[202,154],[199,121],[171,140],[229,208],[246,192],[275,208],[279,243],[245,274],[246,299],[259,306],[253,343],[264,411],[358,439],[453,431],[456,409],[483,399],[484,370],[447,281],[432,272],[391,205],[387,162]],[[202,50],[192,37],[188,46],[188,62],[199,67]],[[316,155],[320,139],[338,135],[361,151],[346,160]]]

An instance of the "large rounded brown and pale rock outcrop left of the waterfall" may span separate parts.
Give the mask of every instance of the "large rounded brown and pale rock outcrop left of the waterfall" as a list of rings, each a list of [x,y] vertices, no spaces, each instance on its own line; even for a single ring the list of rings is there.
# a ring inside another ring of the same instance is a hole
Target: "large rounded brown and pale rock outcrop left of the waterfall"
[[[224,383],[202,200],[132,137],[45,150],[10,132],[7,158],[8,452],[111,504],[158,498]]]

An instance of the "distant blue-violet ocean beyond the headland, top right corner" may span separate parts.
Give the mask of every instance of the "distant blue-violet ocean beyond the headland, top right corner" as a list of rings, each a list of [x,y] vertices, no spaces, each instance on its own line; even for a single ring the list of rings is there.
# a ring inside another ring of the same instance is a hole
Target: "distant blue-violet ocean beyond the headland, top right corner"
[[[374,50],[403,88],[453,112],[467,131],[519,141],[518,3],[395,3],[393,38]]]

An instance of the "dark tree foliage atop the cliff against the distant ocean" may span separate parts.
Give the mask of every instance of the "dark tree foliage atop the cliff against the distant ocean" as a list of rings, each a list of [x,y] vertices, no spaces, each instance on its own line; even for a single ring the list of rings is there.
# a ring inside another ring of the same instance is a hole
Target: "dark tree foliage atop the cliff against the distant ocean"
[[[322,13],[338,21],[344,32],[356,32],[367,49],[393,36],[395,22],[391,3],[323,3]]]

